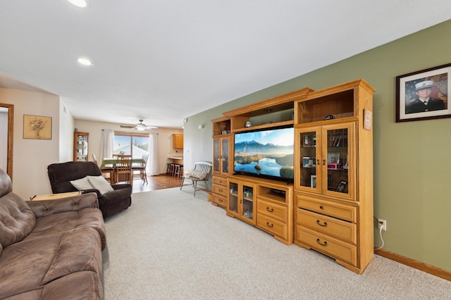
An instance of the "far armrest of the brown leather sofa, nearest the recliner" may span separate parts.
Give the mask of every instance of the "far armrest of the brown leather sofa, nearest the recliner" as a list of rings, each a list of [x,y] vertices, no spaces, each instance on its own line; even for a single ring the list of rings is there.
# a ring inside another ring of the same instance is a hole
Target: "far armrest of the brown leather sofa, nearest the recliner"
[[[35,213],[36,218],[66,211],[80,211],[82,208],[99,208],[99,201],[97,201],[97,194],[95,193],[56,200],[27,201],[27,204]]]

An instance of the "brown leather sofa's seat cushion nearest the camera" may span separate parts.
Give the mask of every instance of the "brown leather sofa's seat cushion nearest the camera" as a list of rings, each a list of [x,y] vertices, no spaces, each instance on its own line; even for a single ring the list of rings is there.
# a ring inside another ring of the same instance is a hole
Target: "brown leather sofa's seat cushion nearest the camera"
[[[100,244],[96,230],[77,228],[8,246],[0,256],[0,299],[40,289],[80,272],[100,277]],[[66,280],[66,291],[78,289],[72,283]]]

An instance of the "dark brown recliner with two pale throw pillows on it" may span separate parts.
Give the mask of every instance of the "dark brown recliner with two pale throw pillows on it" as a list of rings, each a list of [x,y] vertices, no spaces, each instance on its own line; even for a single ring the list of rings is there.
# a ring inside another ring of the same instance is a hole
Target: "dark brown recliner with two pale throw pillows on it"
[[[99,166],[92,161],[68,161],[67,163],[52,163],[47,167],[51,190],[54,194],[77,192],[78,189],[70,183],[71,180],[90,176],[101,176]],[[99,199],[99,208],[104,218],[115,215],[132,204],[132,186],[129,184],[111,185],[114,191],[100,194],[97,189],[82,191],[95,192]]]

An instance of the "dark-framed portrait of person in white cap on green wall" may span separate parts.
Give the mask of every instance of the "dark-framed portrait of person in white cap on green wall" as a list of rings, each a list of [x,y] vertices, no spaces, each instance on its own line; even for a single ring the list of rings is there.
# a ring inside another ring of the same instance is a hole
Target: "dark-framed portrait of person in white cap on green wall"
[[[396,123],[451,118],[450,75],[451,63],[397,76]]]

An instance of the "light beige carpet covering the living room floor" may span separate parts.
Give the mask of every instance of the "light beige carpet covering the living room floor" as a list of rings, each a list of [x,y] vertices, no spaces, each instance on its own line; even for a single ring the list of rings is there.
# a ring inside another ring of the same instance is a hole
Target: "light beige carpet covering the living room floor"
[[[230,218],[206,192],[132,195],[106,220],[104,299],[451,299],[451,282],[375,256],[362,275]]]

